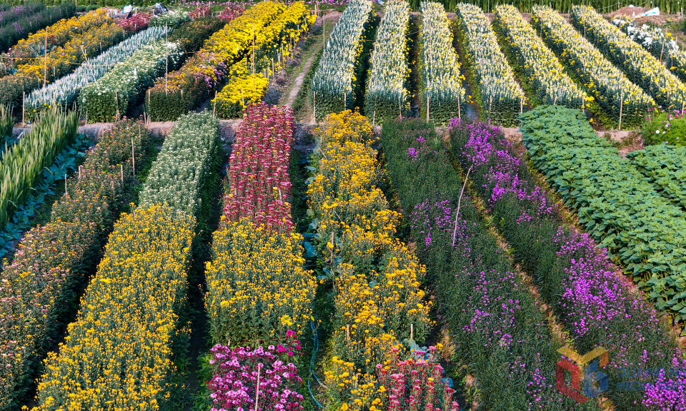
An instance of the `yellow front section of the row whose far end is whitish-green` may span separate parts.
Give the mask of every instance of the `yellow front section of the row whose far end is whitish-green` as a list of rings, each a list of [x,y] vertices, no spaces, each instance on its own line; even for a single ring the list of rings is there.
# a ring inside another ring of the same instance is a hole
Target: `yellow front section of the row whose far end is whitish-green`
[[[158,410],[174,385],[171,345],[184,303],[195,220],[166,205],[114,226],[69,336],[45,361],[43,410]]]

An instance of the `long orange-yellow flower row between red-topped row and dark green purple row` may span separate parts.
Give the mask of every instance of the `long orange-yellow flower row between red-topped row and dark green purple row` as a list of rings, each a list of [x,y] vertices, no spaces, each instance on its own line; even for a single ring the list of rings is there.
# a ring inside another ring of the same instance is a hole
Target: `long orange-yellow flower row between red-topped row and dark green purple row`
[[[393,237],[400,215],[377,188],[384,173],[367,118],[330,114],[315,136],[316,174],[307,193],[335,293],[326,385],[337,410],[380,410],[387,389],[376,384],[376,365],[394,355],[399,340],[422,340],[430,323],[419,288],[425,269]]]

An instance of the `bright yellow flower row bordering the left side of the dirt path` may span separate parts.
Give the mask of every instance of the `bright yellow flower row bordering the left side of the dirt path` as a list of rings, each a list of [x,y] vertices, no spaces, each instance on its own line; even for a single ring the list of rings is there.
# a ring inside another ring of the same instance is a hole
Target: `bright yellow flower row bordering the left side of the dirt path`
[[[262,100],[269,86],[269,79],[265,75],[270,76],[274,70],[286,66],[285,58],[289,56],[292,46],[302,34],[309,31],[315,19],[304,1],[297,1],[279,14],[272,24],[264,27],[255,37],[254,47],[261,52],[254,57],[254,71],[247,60],[234,64],[229,72],[229,82],[212,100],[217,107],[217,116],[237,118],[248,103]]]

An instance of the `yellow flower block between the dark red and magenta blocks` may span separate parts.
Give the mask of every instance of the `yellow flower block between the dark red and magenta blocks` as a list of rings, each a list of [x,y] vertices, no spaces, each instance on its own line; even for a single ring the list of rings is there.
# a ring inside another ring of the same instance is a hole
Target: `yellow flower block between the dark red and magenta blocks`
[[[214,233],[205,298],[214,344],[286,340],[309,325],[317,285],[302,267],[302,240],[248,218]]]

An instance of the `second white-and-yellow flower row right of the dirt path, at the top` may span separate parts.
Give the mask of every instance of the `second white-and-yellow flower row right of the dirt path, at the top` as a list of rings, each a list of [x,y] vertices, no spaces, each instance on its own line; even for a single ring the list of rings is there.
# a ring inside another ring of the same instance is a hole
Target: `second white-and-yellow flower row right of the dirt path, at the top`
[[[391,0],[377,29],[374,52],[370,61],[365,104],[374,121],[402,116],[409,106],[409,92],[405,82],[407,66],[407,30],[409,4],[405,0]]]

